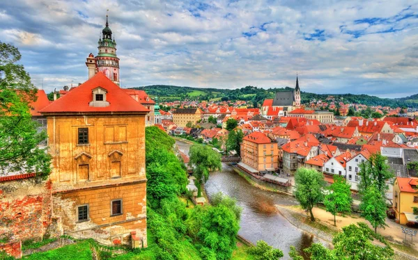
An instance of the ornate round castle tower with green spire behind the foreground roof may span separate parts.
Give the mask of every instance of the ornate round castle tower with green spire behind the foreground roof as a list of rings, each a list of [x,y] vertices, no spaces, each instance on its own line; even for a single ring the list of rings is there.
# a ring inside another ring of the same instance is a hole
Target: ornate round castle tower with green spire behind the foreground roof
[[[119,86],[119,58],[116,56],[116,41],[115,38],[111,38],[111,29],[109,28],[109,22],[102,30],[102,37],[98,42],[99,53],[95,56],[95,72],[103,72],[111,81]],[[91,64],[93,59],[89,56],[87,58],[88,78],[91,78],[91,71],[93,65]]]

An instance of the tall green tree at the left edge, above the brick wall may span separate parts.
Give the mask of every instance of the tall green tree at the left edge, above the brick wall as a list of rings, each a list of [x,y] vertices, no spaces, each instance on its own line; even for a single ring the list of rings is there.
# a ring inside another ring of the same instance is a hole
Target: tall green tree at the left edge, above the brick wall
[[[39,143],[47,138],[32,120],[30,104],[38,91],[13,45],[0,42],[0,175],[7,172],[51,172],[51,156]]]

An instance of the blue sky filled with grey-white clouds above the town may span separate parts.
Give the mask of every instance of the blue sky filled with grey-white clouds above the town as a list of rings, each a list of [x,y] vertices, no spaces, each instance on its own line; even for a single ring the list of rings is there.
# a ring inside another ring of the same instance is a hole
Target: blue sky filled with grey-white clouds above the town
[[[295,86],[316,93],[418,93],[418,0],[0,1],[0,41],[38,88],[86,81],[109,27],[123,88]]]

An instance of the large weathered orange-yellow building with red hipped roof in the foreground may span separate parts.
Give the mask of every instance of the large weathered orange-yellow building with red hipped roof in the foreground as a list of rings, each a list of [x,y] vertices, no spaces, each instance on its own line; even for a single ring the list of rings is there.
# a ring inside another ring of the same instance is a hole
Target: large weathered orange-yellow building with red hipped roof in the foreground
[[[65,231],[147,246],[148,112],[102,72],[40,111],[52,155],[53,212]]]

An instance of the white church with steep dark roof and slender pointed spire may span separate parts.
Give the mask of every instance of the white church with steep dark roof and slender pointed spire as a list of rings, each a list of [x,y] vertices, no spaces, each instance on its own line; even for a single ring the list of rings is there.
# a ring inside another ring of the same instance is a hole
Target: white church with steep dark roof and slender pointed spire
[[[296,75],[296,86],[293,90],[280,91],[274,99],[265,99],[261,106],[261,115],[272,120],[275,117],[287,116],[291,111],[300,108],[300,87]]]

